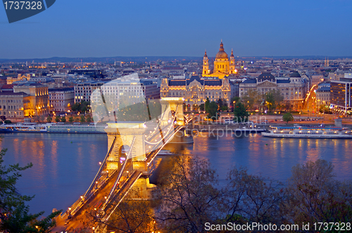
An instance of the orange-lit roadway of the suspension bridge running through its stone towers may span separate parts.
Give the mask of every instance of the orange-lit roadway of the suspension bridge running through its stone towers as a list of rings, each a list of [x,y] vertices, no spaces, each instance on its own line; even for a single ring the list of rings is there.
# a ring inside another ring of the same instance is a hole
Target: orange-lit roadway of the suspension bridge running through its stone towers
[[[149,141],[156,140],[156,143],[153,143],[153,151],[146,152],[146,158],[144,160],[144,163],[147,171],[143,172],[139,170],[133,170],[130,171],[130,175],[127,178],[124,176],[120,178],[120,188],[115,191],[115,194],[113,194],[111,202],[106,204],[106,208],[104,211],[105,213],[102,214],[103,221],[108,220],[115,208],[122,201],[127,192],[132,188],[134,182],[136,182],[141,175],[151,175],[151,162],[153,161],[153,159],[157,156],[159,151],[163,149],[163,146],[165,146],[165,144],[167,144],[172,139],[172,137],[174,137],[175,134],[183,128],[182,125],[177,125],[176,127],[173,127],[173,125],[171,125],[170,127],[171,128],[169,129],[168,127],[163,127],[160,130],[156,129],[154,131],[156,132],[156,134],[153,133],[149,137]],[[165,134],[158,134],[160,132],[165,132]],[[159,137],[160,135],[163,135],[163,138]],[[145,142],[146,144],[151,143],[148,141]],[[130,160],[132,160],[132,158],[130,158]],[[127,161],[125,163],[127,163]],[[96,214],[99,214],[99,209],[101,209],[104,202],[106,201],[106,197],[109,196],[111,190],[113,189],[113,185],[118,179],[118,175],[120,174],[120,172],[120,170],[116,170],[115,172],[113,172],[113,174],[108,177],[107,180],[103,181],[105,182],[105,184],[101,185],[101,187],[94,190],[92,196],[87,197],[87,200],[82,200],[82,203],[77,203],[76,201],[79,210],[77,211],[77,213],[75,213],[75,215],[70,216],[70,213],[66,212],[63,214],[63,217],[58,216],[56,218],[56,227],[52,229],[52,232],[73,232],[74,229],[80,229],[83,227],[88,227],[92,229],[95,223],[94,216]],[[68,210],[68,212],[70,211]]]

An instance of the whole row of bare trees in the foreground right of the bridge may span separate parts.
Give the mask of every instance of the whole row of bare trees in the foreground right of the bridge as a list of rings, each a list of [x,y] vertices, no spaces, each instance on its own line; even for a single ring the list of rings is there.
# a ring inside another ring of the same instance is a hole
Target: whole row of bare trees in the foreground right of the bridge
[[[352,184],[334,180],[333,165],[325,160],[294,166],[286,185],[234,167],[223,188],[206,159],[175,156],[163,167],[153,200],[129,194],[111,220],[100,224],[115,232],[198,233],[208,232],[206,222],[302,225],[352,220]],[[99,222],[96,213],[91,217]]]

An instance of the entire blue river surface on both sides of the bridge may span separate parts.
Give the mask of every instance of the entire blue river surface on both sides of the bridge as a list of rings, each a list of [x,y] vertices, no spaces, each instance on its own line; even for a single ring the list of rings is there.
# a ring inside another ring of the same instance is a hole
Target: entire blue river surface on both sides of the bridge
[[[7,148],[4,164],[32,162],[18,180],[21,194],[34,195],[30,210],[67,209],[94,179],[107,152],[105,134],[1,134],[1,148]],[[285,182],[297,163],[322,158],[335,166],[337,179],[352,179],[351,139],[275,139],[250,134],[249,137],[202,134],[194,144],[168,145],[177,153],[208,158],[225,182],[232,166],[244,166],[251,174],[261,174]]]

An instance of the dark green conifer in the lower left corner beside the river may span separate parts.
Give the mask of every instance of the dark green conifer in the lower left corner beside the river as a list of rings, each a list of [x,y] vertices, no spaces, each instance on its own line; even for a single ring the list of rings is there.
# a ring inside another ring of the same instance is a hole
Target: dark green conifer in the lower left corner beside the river
[[[6,149],[0,152],[0,231],[1,232],[48,232],[55,225],[53,220],[61,211],[51,213],[47,218],[37,220],[44,212],[30,214],[30,209],[25,205],[34,196],[21,195],[15,187],[20,172],[32,167],[32,163],[25,167],[19,164],[2,165]]]

